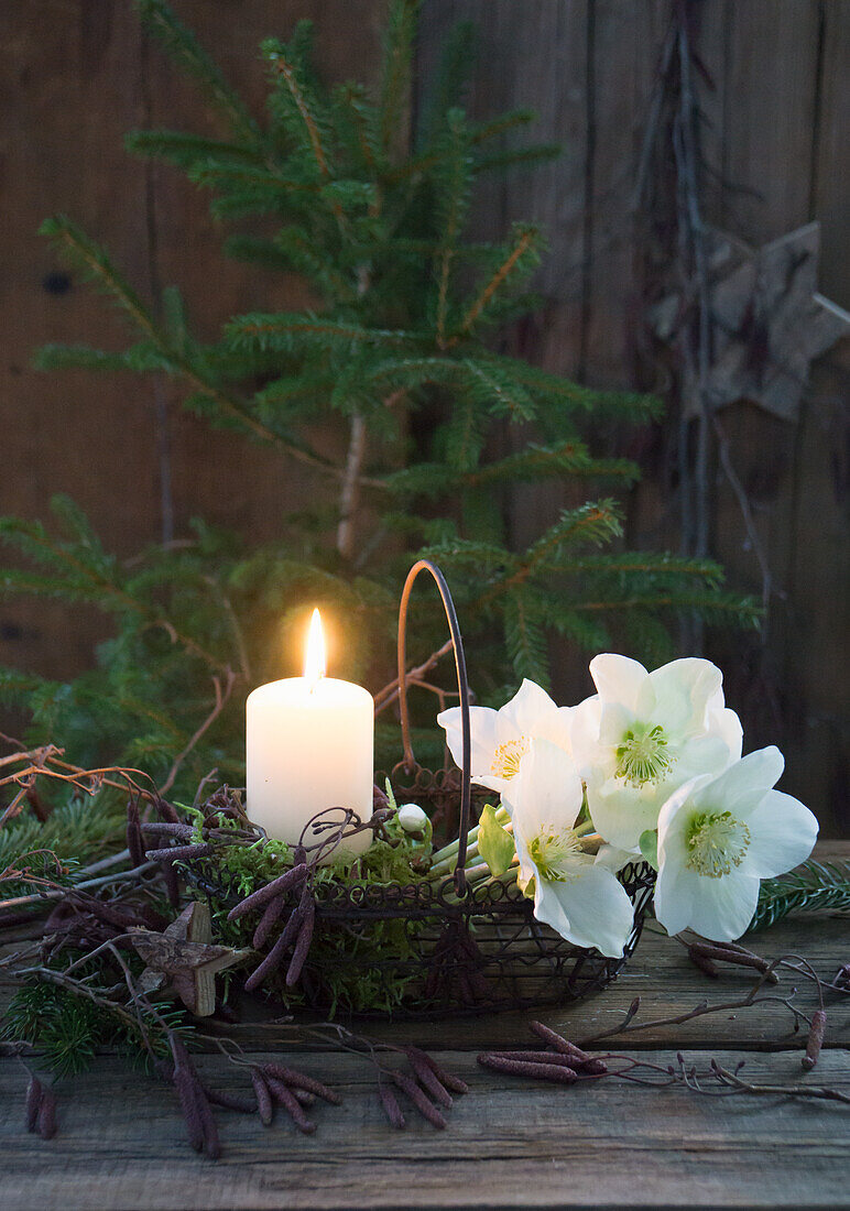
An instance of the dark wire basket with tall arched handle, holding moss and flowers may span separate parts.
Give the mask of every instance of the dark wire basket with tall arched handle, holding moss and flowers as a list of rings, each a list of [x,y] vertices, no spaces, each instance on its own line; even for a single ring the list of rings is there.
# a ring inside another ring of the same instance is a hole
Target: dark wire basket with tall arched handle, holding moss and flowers
[[[429,572],[440,590],[452,635],[461,707],[464,761],[460,771],[423,769],[410,742],[406,681],[407,612],[417,576]],[[464,647],[446,579],[436,564],[420,559],[410,569],[398,614],[398,702],[403,757],[391,774],[397,798],[436,808],[443,819],[456,809],[455,869],[441,883],[318,884],[316,934],[335,935],[332,970],[321,946],[311,947],[299,989],[310,1009],[329,1015],[339,1009],[338,989],[368,980],[380,1000],[387,991],[391,1012],[403,1016],[481,1014],[578,1000],[599,992],[622,970],[643,929],[655,874],[645,862],[619,873],[634,906],[634,925],[622,957],[605,958],[565,941],[534,916],[534,906],[516,884],[470,883],[465,873],[472,802],[470,707]],[[312,822],[311,822],[312,823]],[[211,897],[239,899],[217,884],[206,863],[188,873]],[[343,945],[339,945],[339,943]],[[271,993],[272,991],[269,989]],[[391,993],[391,995],[390,995]],[[348,1011],[357,1011],[348,1004]],[[387,1009],[387,1011],[390,1011]]]

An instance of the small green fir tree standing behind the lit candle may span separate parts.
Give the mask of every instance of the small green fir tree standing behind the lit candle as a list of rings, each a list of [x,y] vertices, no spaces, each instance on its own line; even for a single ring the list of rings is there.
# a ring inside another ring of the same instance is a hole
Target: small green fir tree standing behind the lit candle
[[[542,237],[517,224],[493,243],[471,242],[475,182],[552,149],[513,144],[528,113],[470,121],[467,27],[448,40],[409,139],[413,0],[391,5],[374,92],[322,82],[308,22],[264,41],[262,117],[163,0],[138,8],[222,130],[220,138],[139,131],[127,148],[208,191],[213,216],[234,224],[225,254],[300,276],[315,310],[232,316],[219,340],[202,342],[176,288],[143,300],[107,251],[58,216],[44,234],[120,309],[131,337],[120,351],[46,346],[36,365],[166,374],[186,409],[271,447],[283,472],[292,461],[309,469],[314,490],[308,507],[282,520],[275,544],[246,550],[196,523],[188,541],[128,563],[67,499],[54,501],[54,528],[1,520],[0,540],[19,558],[0,573],[0,591],[96,607],[114,621],[97,668],[69,684],[0,672],[0,696],[30,705],[33,740],[57,739],[81,763],[139,765],[157,781],[188,751],[177,784],[186,797],[213,768],[237,785],[245,695],[298,666],[310,607],[331,624],[334,673],[374,685],[392,677],[397,591],[423,549],[459,598],[482,700],[522,676],[546,683],[552,635],[656,658],[677,612],[754,620],[752,603],[723,591],[714,564],[624,552],[609,499],[564,511],[525,551],[511,543],[513,486],[575,477],[591,497],[630,486],[638,469],[598,457],[592,423],[645,424],[659,406],[494,352],[499,326],[528,309]],[[344,448],[355,425],[366,427],[362,461],[315,448],[320,429]],[[505,448],[513,453],[496,453]],[[358,507],[354,539],[334,550],[346,466],[360,480]],[[427,610],[414,615],[417,659],[442,643],[443,627]]]

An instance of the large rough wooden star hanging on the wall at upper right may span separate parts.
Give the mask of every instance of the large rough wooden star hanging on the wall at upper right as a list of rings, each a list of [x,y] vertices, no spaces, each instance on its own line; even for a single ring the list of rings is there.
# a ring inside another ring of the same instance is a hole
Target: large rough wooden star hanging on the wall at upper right
[[[817,293],[820,224],[809,223],[753,249],[723,231],[707,234],[712,317],[705,398],[713,408],[751,400],[794,420],[811,362],[850,334],[850,312]],[[662,340],[676,340],[693,320],[696,283],[650,311]],[[683,398],[700,409],[694,372]]]

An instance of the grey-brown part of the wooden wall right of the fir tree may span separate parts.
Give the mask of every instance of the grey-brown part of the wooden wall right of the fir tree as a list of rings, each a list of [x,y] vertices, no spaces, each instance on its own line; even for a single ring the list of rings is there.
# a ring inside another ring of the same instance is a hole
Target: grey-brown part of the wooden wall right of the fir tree
[[[701,0],[696,50],[714,82],[701,91],[707,159],[734,189],[707,196],[708,218],[753,246],[810,219],[822,224],[820,288],[850,308],[850,4],[846,0]],[[470,108],[529,107],[530,133],[565,154],[515,173],[481,199],[482,230],[535,219],[550,254],[539,276],[545,318],[522,351],[597,385],[633,383],[643,263],[632,186],[668,0],[430,0],[420,81],[444,31],[479,28]],[[799,420],[741,403],[724,409],[737,475],[775,581],[764,636],[711,637],[750,748],[777,742],[783,786],[850,833],[848,803],[848,546],[850,340],[815,366]],[[515,505],[522,539],[569,499],[528,489]],[[712,487],[713,553],[729,581],[759,593],[739,503]],[[630,501],[630,541],[677,546],[674,500],[651,476]],[[584,658],[561,653],[559,688],[588,688]]]

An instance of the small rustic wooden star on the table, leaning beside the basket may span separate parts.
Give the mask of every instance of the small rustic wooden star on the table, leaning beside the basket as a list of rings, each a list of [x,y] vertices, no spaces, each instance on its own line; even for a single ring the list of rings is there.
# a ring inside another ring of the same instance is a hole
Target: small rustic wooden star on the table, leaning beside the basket
[[[213,946],[209,908],[200,902],[184,908],[162,934],[133,930],[132,942],[148,964],[138,980],[139,991],[153,993],[171,986],[197,1017],[208,1017],[216,1009],[218,972],[245,962],[253,953]]]

